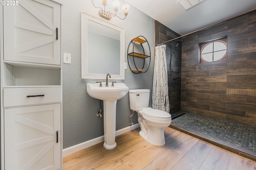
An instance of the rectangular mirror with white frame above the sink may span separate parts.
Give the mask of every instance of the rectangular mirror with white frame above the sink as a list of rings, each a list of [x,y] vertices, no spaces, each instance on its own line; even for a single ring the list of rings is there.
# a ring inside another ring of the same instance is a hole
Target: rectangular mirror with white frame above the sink
[[[82,12],[82,79],[124,79],[124,29]]]

